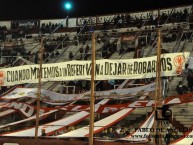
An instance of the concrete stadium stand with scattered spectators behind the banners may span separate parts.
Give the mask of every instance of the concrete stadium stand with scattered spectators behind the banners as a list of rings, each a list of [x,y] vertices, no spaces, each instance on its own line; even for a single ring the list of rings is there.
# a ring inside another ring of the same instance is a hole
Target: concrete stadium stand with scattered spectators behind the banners
[[[190,56],[192,56],[192,6],[182,6],[138,13],[69,18],[68,27],[66,27],[65,19],[0,22],[0,67],[2,69],[20,65],[38,64],[41,38],[44,39],[44,63],[90,60],[92,53],[90,36],[93,30],[97,33],[96,59],[131,59],[155,56],[158,45],[158,28],[162,32],[162,54],[188,51],[190,52]],[[128,41],[124,42],[124,39]],[[183,84],[187,84],[188,86],[187,76],[185,74],[177,77],[162,78],[162,84],[166,85],[166,89],[163,90],[163,96],[167,98],[168,96],[177,95],[176,86],[179,81],[183,81]],[[154,78],[103,80],[96,82],[95,87],[97,91],[107,91],[119,88],[119,86],[121,88],[133,88],[149,84],[152,81],[155,81]],[[1,96],[15,87],[2,86],[0,89]],[[22,87],[38,88],[38,85],[25,84]],[[83,94],[90,91],[90,81],[46,82],[42,83],[42,88],[61,94]],[[192,90],[189,89],[188,93],[192,93]],[[153,99],[151,95],[147,95],[146,97],[147,99]],[[116,99],[115,101],[121,102]],[[115,101],[109,102],[109,104],[118,103]],[[42,103],[42,105],[45,104]],[[48,105],[47,107],[53,106]],[[193,119],[191,108],[192,103],[172,106],[173,116],[169,122],[169,126],[191,128]],[[1,111],[4,111],[4,109],[1,109]],[[138,108],[120,122],[106,128],[103,132],[97,133],[95,137],[103,139],[118,138],[117,136],[115,137],[117,128],[120,128],[121,137],[125,137],[135,131],[135,128],[140,126],[152,111],[151,107],[146,109]],[[95,119],[103,119],[108,115],[96,114]],[[10,116],[4,118],[1,124],[8,124],[14,119],[17,120],[21,117],[20,115]],[[54,120],[53,116],[49,121],[51,120]],[[88,118],[79,125],[70,127],[74,130],[84,125],[88,125]],[[165,129],[167,126],[168,124],[164,126]],[[1,133],[17,129],[4,128],[4,130],[1,130]],[[56,132],[55,135],[63,133],[64,130]],[[183,131],[178,132],[180,135],[182,133]]]

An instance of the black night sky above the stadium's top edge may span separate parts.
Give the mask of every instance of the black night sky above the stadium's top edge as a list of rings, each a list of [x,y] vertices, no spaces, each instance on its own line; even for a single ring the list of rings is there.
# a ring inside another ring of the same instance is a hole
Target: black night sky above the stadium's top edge
[[[65,18],[67,0],[0,0],[0,20]],[[193,4],[193,0],[68,0],[70,17],[135,12]]]

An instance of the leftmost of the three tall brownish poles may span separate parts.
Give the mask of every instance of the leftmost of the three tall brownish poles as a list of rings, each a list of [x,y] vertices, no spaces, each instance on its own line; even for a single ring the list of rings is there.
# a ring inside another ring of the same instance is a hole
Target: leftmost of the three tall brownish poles
[[[42,62],[43,62],[43,39],[41,39],[41,46],[39,48],[39,78],[38,78],[38,92],[37,92],[37,108],[36,108],[36,126],[35,126],[35,139],[38,137],[38,127],[39,127],[39,110],[40,110],[40,97],[41,97],[41,76],[42,76]]]

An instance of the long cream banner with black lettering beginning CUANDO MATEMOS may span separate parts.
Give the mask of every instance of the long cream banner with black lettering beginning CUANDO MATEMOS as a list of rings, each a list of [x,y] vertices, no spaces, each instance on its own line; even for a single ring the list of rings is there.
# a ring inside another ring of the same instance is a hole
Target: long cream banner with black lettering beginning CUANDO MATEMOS
[[[189,57],[185,53],[163,54],[161,58],[162,76],[179,75]],[[156,56],[121,59],[96,60],[95,80],[139,79],[156,76]],[[0,85],[10,86],[24,83],[38,83],[39,65],[25,65],[0,69]],[[43,64],[42,82],[90,80],[91,61],[69,61]]]

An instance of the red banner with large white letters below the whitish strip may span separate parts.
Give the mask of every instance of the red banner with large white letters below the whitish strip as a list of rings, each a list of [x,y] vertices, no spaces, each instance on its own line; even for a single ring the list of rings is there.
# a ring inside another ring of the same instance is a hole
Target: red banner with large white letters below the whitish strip
[[[96,113],[112,113],[117,112],[124,108],[144,108],[144,107],[153,107],[155,105],[155,100],[149,100],[146,98],[149,92],[144,93],[138,100],[131,101],[124,104],[113,104],[107,105],[106,103],[110,99],[103,99],[99,103],[95,104],[95,112]],[[176,104],[183,104],[183,103],[190,103],[193,102],[192,93],[179,95],[179,96],[169,96],[165,99],[162,104],[164,105],[176,105]],[[0,108],[9,108],[6,111],[0,112],[0,117],[6,116],[10,113],[14,113],[14,110],[19,111],[25,117],[30,117],[35,114],[36,107],[31,105],[26,105],[27,103],[19,103],[19,102],[10,102],[6,103],[6,105],[1,106]],[[56,105],[57,103],[55,103]],[[29,107],[29,110],[27,107]],[[89,104],[88,105],[81,105],[81,104],[69,104],[61,107],[57,107],[57,110],[63,110],[68,112],[77,112],[77,111],[89,111]],[[13,109],[13,110],[12,110]],[[45,113],[46,111],[56,110],[56,108],[40,108],[40,114]]]

